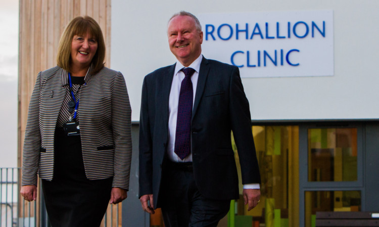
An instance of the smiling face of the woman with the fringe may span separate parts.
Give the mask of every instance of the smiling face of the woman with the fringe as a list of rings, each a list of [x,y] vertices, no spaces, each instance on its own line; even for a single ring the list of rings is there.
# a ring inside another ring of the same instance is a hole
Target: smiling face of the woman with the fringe
[[[71,60],[73,66],[88,67],[98,50],[98,41],[88,33],[74,35],[71,42]]]

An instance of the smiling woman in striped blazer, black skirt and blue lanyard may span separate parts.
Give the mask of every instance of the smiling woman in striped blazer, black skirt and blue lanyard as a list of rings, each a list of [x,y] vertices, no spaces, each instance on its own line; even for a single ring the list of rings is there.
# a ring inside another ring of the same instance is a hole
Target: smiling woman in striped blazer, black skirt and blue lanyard
[[[31,96],[21,195],[36,200],[37,173],[53,227],[99,226],[109,203],[127,197],[131,109],[120,72],[104,67],[99,24],[74,18],[58,66],[39,72]]]

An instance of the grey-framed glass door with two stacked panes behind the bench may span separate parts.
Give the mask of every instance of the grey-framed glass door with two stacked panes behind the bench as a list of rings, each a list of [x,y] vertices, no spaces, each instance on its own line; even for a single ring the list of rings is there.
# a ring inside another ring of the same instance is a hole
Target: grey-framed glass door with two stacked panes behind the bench
[[[300,226],[315,226],[317,211],[360,211],[362,126],[299,129]]]

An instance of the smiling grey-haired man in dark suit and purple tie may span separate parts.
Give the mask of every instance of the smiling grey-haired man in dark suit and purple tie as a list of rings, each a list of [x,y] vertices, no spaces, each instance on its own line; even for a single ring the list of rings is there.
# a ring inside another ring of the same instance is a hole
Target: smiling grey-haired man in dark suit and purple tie
[[[161,207],[166,227],[217,226],[239,198],[231,130],[248,210],[260,199],[249,103],[238,68],[202,56],[194,15],[175,14],[167,32],[177,62],[147,75],[142,89],[140,202],[149,213]]]

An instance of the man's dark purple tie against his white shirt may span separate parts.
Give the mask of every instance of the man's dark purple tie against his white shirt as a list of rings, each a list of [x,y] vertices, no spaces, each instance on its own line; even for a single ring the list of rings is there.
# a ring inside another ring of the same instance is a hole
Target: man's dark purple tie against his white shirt
[[[192,87],[191,76],[194,74],[193,68],[182,68],[184,79],[181,81],[178,118],[176,119],[175,134],[175,154],[183,160],[191,153],[191,117],[194,90]]]

